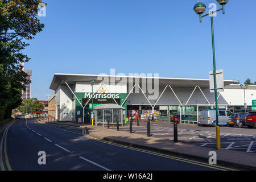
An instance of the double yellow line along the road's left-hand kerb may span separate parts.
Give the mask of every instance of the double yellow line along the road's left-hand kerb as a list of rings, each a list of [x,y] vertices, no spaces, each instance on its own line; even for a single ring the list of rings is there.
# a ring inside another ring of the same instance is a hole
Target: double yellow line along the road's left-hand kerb
[[[0,143],[0,169],[1,169],[1,171],[6,171],[5,164],[6,164],[8,171],[13,171],[13,169],[11,168],[11,165],[9,163],[9,159],[8,159],[8,155],[7,155],[7,144],[6,144],[7,133],[8,133],[9,128],[11,127],[11,125],[13,125],[13,123],[10,123],[9,125],[7,125],[3,131],[3,135],[2,135],[2,139],[1,139],[1,143]],[[3,162],[3,156],[5,156],[5,164]]]

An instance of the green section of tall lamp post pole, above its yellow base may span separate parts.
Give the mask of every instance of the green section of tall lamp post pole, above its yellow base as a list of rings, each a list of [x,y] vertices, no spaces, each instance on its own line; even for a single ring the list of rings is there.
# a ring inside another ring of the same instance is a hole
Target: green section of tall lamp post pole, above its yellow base
[[[215,61],[215,46],[214,46],[214,31],[213,31],[213,15],[210,16],[212,25],[212,53],[213,53],[213,76],[214,76],[214,93],[215,93],[215,107],[216,107],[216,125],[218,126],[218,97],[217,97],[217,83],[216,83],[216,61]]]

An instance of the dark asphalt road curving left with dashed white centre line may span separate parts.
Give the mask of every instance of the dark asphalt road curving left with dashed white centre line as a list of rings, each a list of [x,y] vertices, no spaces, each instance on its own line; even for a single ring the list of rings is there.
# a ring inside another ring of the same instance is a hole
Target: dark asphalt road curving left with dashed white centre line
[[[39,151],[46,164],[38,163]],[[170,171],[224,170],[195,160],[121,146],[83,135],[65,125],[19,119],[1,137],[1,170]]]

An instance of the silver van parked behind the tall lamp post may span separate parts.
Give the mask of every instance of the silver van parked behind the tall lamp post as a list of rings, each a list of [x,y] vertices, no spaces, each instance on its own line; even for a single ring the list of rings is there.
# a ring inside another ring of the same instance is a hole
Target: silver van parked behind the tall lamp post
[[[218,110],[218,125],[228,125],[228,118],[233,114],[229,110]],[[205,109],[200,111],[198,126],[216,126],[216,110]]]

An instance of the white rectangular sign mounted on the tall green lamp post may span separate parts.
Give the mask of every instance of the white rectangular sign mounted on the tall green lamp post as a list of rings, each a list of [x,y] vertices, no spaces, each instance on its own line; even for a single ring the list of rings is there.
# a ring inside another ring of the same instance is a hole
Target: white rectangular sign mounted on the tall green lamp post
[[[216,70],[217,92],[224,92],[224,74],[223,69]],[[214,93],[214,74],[210,71],[210,93]]]

